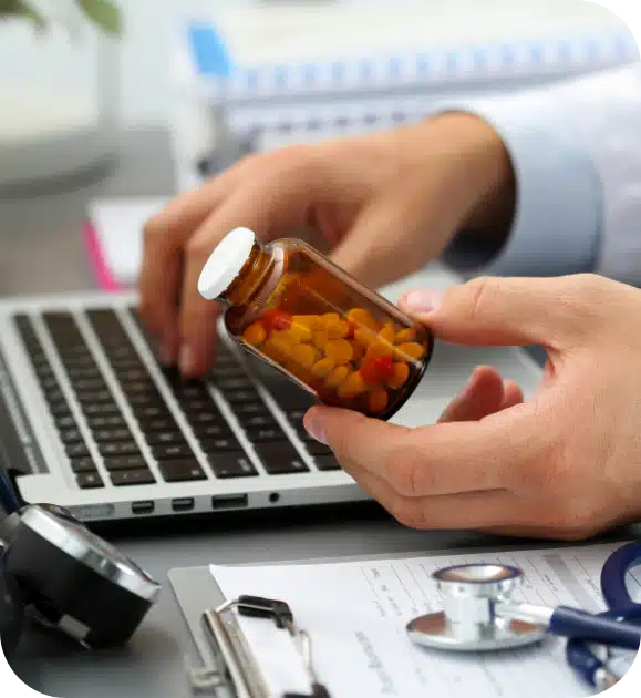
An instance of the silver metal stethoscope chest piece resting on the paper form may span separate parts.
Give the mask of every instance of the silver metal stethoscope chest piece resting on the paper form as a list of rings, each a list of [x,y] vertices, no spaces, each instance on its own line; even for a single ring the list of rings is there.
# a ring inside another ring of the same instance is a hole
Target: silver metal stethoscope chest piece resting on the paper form
[[[446,567],[432,577],[443,596],[443,610],[418,616],[407,626],[417,645],[433,649],[484,651],[531,645],[547,624],[525,622],[507,612],[523,572],[509,565],[471,564]]]

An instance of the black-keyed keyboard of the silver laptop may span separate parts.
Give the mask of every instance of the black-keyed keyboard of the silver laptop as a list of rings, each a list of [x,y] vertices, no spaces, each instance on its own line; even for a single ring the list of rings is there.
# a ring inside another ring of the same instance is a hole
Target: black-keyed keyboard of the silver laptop
[[[125,311],[153,351],[135,310]],[[249,372],[219,342],[207,378],[185,381],[138,352],[112,308],[77,318],[56,310],[41,319],[44,342],[31,317],[14,317],[79,487],[104,487],[105,476],[114,486],[130,486],[310,472],[257,384],[278,403],[313,469],[339,469],[302,427],[313,399],[262,361],[248,355]]]

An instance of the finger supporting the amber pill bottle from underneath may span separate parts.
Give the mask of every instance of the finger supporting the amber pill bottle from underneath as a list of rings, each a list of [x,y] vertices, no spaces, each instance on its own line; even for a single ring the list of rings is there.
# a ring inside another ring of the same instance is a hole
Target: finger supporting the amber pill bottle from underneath
[[[304,423],[312,435],[321,434],[341,463],[382,478],[409,497],[513,489],[515,473],[527,468],[536,450],[526,421],[506,412],[480,422],[407,429],[348,410],[313,407]]]

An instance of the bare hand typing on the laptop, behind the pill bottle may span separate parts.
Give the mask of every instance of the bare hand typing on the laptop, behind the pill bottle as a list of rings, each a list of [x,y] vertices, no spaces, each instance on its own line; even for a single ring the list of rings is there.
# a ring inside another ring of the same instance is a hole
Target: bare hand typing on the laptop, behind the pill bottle
[[[498,224],[511,178],[496,133],[464,114],[247,157],[148,222],[142,318],[163,360],[201,376],[215,356],[216,309],[197,281],[230,229],[268,240],[311,225],[337,264],[376,287],[420,269],[461,228],[507,230],[509,215]]]

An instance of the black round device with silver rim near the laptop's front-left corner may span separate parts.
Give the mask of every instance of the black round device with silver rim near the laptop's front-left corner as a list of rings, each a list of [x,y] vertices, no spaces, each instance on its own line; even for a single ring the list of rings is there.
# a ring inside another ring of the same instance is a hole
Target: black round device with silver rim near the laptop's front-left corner
[[[161,585],[53,504],[21,504],[0,466],[0,661],[27,622],[86,649],[126,644]]]

